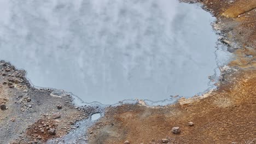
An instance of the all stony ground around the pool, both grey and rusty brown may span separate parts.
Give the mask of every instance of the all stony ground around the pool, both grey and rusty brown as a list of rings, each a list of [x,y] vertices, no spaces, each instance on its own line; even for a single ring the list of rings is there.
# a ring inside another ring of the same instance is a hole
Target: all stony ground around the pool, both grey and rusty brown
[[[148,107],[140,101],[107,107],[88,130],[89,143],[256,143],[256,1],[200,3],[217,17],[214,29],[236,55],[220,68],[218,88],[174,105]],[[53,89],[31,87],[25,71],[9,63],[0,61],[0,69],[0,143],[45,143],[65,136],[75,122],[98,111],[75,107],[69,95],[53,97]],[[172,127],[181,133],[173,134]]]

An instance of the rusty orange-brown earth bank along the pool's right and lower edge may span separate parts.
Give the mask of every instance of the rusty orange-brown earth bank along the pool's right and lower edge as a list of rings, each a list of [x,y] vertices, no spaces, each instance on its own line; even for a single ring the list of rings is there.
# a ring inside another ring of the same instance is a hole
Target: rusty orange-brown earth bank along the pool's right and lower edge
[[[220,68],[218,88],[174,105],[148,107],[140,101],[108,107],[88,130],[89,143],[256,143],[256,1],[200,3],[217,17],[214,29],[236,55]],[[181,133],[173,134],[172,127]]]

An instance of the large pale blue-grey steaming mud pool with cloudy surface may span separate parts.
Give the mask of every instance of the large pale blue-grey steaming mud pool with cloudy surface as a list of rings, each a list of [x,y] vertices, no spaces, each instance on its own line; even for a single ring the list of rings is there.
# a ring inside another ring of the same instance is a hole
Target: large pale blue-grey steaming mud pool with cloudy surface
[[[213,21],[174,0],[1,0],[0,59],[85,103],[167,104],[214,88],[208,76],[230,54],[216,47]]]

